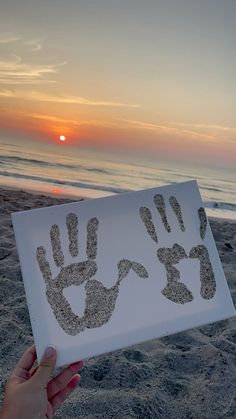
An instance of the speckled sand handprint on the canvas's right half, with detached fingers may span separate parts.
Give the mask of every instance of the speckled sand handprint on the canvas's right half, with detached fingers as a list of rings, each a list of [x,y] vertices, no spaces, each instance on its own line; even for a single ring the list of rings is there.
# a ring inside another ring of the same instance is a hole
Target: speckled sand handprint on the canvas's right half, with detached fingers
[[[165,230],[168,233],[171,233],[171,226],[167,220],[166,206],[163,195],[156,194],[154,196],[154,203],[159,216],[161,217]],[[177,217],[179,228],[182,232],[184,232],[185,226],[179,202],[174,196],[171,196],[169,198],[169,204]],[[141,207],[139,213],[149,236],[154,242],[158,243],[157,229],[155,228],[155,225],[152,221],[152,213],[150,209],[147,207]],[[199,233],[201,239],[203,240],[205,238],[207,228],[207,218],[204,208],[199,208],[198,217],[200,222]],[[180,282],[180,272],[175,266],[173,266],[180,262],[181,259],[188,258],[184,248],[177,243],[175,243],[172,248],[161,247],[157,250],[157,257],[159,261],[165,265],[167,274],[167,285],[161,291],[162,294],[169,300],[179,304],[185,304],[192,301],[192,292],[183,282]],[[190,250],[189,257],[192,259],[199,259],[200,261],[200,294],[202,298],[213,298],[216,291],[216,281],[207,247],[203,244],[193,247]]]

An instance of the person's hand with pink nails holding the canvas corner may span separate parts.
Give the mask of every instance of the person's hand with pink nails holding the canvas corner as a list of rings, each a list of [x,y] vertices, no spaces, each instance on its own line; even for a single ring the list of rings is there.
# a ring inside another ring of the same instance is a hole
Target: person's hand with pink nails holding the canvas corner
[[[35,346],[21,357],[10,375],[5,389],[0,419],[51,419],[58,407],[76,388],[80,375],[76,374],[83,362],[69,365],[49,381],[56,364],[56,350],[47,348],[39,366]]]

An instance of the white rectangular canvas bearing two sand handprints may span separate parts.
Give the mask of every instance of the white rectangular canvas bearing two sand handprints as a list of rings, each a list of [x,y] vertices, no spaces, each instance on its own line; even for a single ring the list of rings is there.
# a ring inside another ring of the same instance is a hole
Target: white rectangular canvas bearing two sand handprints
[[[235,315],[197,182],[12,214],[38,358],[57,366]]]

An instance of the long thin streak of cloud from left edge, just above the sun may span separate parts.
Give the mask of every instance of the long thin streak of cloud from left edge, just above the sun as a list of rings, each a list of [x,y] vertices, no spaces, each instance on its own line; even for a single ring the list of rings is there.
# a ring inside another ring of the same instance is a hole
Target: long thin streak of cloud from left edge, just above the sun
[[[0,90],[0,97],[14,98],[21,100],[30,100],[36,102],[55,102],[65,103],[72,105],[87,105],[87,106],[111,106],[111,107],[124,107],[124,108],[139,108],[140,105],[110,102],[104,100],[93,100],[87,99],[81,96],[70,96],[70,95],[56,95],[51,93],[44,93],[38,91],[24,92],[24,91],[13,91],[13,90]]]

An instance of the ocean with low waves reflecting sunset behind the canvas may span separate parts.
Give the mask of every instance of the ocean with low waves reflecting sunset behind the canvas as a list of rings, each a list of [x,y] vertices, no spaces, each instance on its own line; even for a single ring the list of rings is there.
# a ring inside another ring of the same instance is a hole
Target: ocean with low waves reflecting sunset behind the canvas
[[[0,184],[99,198],[196,179],[207,214],[236,219],[236,170],[167,162],[36,140],[0,140]]]

